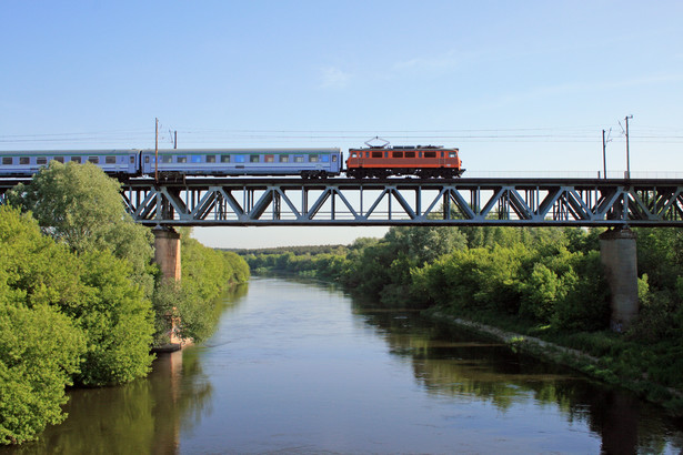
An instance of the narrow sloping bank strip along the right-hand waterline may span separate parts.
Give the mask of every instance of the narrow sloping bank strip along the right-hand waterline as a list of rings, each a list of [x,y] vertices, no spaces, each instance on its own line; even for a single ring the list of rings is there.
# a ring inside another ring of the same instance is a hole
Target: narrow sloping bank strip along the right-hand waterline
[[[646,373],[623,374],[623,368],[614,368],[610,357],[591,355],[587,352],[563,346],[536,336],[506,331],[448,314],[442,309],[429,309],[422,315],[438,322],[464,327],[480,335],[508,344],[515,352],[523,352],[546,362],[569,366],[587,376],[611,385],[624,387],[644,400],[662,405],[670,414],[683,416],[683,392],[652,382]]]

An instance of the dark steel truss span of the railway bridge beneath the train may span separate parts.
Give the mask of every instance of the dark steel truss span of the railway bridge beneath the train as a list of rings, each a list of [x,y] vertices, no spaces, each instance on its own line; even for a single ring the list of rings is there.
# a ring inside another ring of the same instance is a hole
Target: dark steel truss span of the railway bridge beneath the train
[[[2,193],[16,182],[0,182]],[[121,195],[150,226],[681,226],[682,180],[135,179]]]

